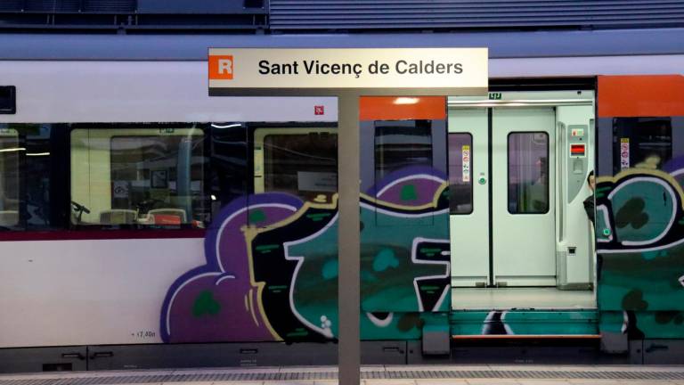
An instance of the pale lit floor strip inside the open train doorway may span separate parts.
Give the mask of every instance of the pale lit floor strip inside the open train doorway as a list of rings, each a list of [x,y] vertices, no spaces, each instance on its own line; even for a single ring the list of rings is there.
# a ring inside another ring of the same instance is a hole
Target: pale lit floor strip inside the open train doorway
[[[452,308],[467,310],[594,309],[593,291],[556,288],[454,288]]]

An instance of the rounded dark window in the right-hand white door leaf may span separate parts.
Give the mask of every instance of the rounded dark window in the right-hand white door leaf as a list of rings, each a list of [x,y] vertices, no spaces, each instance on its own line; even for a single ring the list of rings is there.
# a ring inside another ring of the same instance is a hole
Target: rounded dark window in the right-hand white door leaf
[[[509,134],[509,213],[549,211],[549,135]]]

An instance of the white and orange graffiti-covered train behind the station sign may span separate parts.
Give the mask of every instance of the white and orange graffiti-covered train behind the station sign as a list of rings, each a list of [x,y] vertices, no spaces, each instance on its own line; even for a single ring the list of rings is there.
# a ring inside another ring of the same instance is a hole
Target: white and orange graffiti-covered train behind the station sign
[[[363,97],[339,155],[336,98],[210,97],[207,49],[388,36],[4,36],[0,372],[335,363],[345,157],[364,363],[681,364],[681,46],[503,35],[488,94]]]

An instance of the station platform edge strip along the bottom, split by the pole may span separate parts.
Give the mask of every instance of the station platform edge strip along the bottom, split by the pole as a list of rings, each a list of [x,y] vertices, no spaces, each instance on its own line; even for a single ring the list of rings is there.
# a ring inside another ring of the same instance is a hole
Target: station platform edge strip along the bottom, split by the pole
[[[336,384],[335,366],[0,375],[0,385]],[[679,384],[682,366],[421,365],[364,366],[363,385]]]

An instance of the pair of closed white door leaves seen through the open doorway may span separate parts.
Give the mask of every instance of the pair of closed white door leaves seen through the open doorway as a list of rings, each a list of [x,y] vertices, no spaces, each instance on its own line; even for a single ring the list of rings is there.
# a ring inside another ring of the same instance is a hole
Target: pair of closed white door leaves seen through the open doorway
[[[452,243],[462,255],[452,269],[454,286],[556,283],[549,183],[554,127],[552,108],[477,108],[450,115],[452,169],[460,161],[460,172],[450,175]]]

